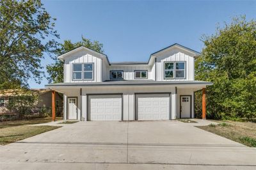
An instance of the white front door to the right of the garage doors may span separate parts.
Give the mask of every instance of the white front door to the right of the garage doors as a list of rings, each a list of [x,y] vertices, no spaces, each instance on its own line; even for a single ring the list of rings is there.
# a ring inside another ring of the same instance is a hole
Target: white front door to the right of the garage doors
[[[180,97],[180,118],[191,118],[191,96]]]

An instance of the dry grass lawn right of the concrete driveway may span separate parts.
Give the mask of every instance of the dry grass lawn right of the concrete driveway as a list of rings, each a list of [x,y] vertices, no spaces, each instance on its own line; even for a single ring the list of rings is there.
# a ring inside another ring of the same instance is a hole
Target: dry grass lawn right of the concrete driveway
[[[246,146],[256,147],[256,123],[225,121],[220,122],[218,125],[211,124],[198,128],[221,135]]]

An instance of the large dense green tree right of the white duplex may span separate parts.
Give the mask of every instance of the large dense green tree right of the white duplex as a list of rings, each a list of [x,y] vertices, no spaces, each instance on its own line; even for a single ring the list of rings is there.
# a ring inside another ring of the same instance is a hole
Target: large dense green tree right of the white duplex
[[[215,35],[204,36],[203,42],[205,48],[195,62],[195,78],[214,82],[207,88],[208,118],[255,118],[255,20],[236,17],[218,27]]]

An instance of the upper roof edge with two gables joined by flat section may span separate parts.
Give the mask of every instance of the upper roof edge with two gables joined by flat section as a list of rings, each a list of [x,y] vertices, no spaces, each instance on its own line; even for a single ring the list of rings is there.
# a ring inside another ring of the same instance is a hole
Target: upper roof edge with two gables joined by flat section
[[[77,52],[79,50],[87,50],[89,52],[93,52],[95,54],[98,54],[100,57],[102,58],[105,58],[108,65],[148,65],[148,63],[150,63],[150,60],[152,59],[152,56],[155,56],[157,53],[159,52],[163,52],[164,50],[168,50],[168,49],[171,49],[173,47],[178,47],[179,49],[183,49],[183,50],[186,50],[188,52],[191,52],[193,53],[195,56],[193,56],[194,58],[197,58],[199,55],[200,55],[200,52],[197,52],[196,50],[192,50],[192,49],[189,49],[188,47],[185,47],[183,45],[180,45],[179,43],[173,43],[172,45],[168,46],[168,47],[165,47],[164,49],[161,49],[161,50],[158,50],[157,52],[154,52],[152,54],[150,54],[150,58],[148,59],[148,61],[137,61],[137,62],[134,62],[134,61],[124,61],[124,62],[109,62],[109,59],[108,59],[108,56],[106,54],[103,54],[101,52],[97,52],[95,50],[92,50],[92,49],[88,49],[87,47],[84,47],[84,46],[80,46],[80,47],[77,47],[75,49],[72,49],[64,54],[61,54],[60,56],[58,56],[58,59],[60,59],[61,61],[63,61],[65,59],[66,56],[74,53],[74,52]]]

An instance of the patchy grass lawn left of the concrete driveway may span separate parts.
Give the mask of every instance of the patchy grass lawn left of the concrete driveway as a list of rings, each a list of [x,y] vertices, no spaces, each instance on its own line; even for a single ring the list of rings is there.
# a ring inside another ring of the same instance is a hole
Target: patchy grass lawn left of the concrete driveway
[[[33,135],[59,128],[54,126],[28,126],[49,121],[51,121],[51,118],[0,122],[0,145],[14,143]]]

